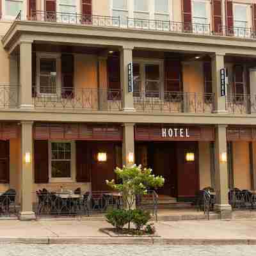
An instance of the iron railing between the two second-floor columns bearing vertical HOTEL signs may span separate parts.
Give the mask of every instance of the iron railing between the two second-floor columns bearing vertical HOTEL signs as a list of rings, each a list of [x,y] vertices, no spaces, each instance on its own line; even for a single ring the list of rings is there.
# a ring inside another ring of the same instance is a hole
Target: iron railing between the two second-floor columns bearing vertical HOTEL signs
[[[214,93],[134,92],[134,108],[153,113],[212,113]]]

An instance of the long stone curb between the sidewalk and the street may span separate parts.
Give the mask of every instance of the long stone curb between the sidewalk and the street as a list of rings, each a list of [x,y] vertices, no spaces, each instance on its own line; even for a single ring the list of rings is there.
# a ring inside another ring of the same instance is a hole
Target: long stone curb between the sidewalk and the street
[[[159,237],[0,237],[0,244],[256,245],[256,239],[168,239]]]

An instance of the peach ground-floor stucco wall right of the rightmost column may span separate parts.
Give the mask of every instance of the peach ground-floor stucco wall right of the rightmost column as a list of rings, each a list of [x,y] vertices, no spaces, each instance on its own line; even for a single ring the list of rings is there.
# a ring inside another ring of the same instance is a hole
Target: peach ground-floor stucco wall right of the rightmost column
[[[248,142],[233,143],[234,187],[251,189]]]

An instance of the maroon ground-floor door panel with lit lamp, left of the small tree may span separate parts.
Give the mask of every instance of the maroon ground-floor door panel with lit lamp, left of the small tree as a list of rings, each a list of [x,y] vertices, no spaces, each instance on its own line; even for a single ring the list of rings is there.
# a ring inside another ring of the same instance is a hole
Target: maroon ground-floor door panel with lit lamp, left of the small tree
[[[107,161],[99,162],[99,152],[107,153]],[[92,143],[92,191],[111,190],[106,180],[115,179],[115,145],[114,143]]]

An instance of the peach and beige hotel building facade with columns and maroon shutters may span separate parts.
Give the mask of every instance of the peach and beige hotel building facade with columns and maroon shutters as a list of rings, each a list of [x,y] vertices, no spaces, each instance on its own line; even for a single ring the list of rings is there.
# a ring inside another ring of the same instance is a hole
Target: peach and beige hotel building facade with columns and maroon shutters
[[[0,191],[108,189],[116,166],[193,201],[256,190],[255,0],[0,0]],[[99,161],[99,155],[104,161]],[[104,159],[106,157],[106,159]]]

